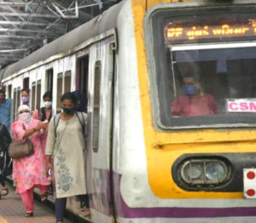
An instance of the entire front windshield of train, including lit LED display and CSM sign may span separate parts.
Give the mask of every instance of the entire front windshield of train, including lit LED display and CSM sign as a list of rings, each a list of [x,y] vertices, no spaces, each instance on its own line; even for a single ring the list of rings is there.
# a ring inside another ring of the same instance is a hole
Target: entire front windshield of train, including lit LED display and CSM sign
[[[196,13],[157,18],[161,122],[177,128],[255,125],[256,16],[247,8]]]

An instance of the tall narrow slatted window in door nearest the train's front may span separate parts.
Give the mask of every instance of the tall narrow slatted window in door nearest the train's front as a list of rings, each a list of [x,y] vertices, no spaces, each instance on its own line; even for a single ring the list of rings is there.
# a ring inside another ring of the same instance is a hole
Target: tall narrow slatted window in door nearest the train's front
[[[100,134],[100,100],[101,100],[101,61],[96,61],[94,71],[94,106],[93,106],[93,133],[92,133],[92,149],[98,152],[99,134]]]

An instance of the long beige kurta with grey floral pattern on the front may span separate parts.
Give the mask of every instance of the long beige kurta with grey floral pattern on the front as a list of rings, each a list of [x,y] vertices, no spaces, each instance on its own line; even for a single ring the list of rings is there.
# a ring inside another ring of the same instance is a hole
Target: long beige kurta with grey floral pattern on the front
[[[87,114],[84,121],[87,120]],[[46,155],[54,158],[56,197],[86,194],[84,152],[85,142],[79,118],[58,123],[55,137],[55,117],[50,120]]]

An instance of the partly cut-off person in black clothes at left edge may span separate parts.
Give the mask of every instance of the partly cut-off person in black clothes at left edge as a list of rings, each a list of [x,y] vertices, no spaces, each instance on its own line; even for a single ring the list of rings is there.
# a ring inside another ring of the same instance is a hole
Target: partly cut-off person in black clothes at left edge
[[[2,186],[1,196],[7,196],[9,190],[4,182],[4,176],[12,174],[12,160],[8,154],[9,144],[12,138],[8,129],[0,123],[0,184]],[[0,196],[0,198],[1,198]]]

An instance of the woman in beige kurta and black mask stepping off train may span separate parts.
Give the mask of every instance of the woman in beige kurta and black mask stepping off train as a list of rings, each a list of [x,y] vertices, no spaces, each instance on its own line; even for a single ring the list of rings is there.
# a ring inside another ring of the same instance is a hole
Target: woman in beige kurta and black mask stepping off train
[[[87,114],[75,111],[78,99],[73,93],[61,96],[61,114],[50,120],[46,143],[46,172],[55,170],[55,215],[57,223],[63,222],[67,197],[78,196],[86,206],[84,216],[90,215],[89,199],[85,184],[84,126]]]

